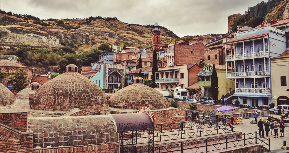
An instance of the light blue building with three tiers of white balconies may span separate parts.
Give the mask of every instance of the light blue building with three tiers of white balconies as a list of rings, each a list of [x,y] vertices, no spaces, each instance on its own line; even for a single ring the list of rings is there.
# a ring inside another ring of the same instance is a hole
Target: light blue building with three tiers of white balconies
[[[236,39],[225,42],[233,46],[229,51],[226,49],[226,65],[232,66],[231,72],[226,72],[227,79],[235,81],[233,96],[237,96],[240,103],[260,107],[273,102],[270,58],[281,55],[287,41],[283,27],[277,29],[263,24],[236,33]]]

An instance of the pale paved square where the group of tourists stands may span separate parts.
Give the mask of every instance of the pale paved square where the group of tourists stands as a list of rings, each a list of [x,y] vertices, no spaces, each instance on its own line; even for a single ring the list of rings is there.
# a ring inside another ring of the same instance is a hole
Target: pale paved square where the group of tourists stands
[[[268,117],[257,117],[257,121],[259,121],[259,119],[262,120],[268,120]],[[258,132],[258,127],[257,124],[250,124],[250,122],[254,120],[254,118],[249,118],[249,119],[244,119],[242,120],[243,124],[238,124],[235,125],[234,127],[234,131],[239,131],[242,133],[253,133],[255,131]],[[264,126],[265,129],[265,126]],[[284,130],[284,138],[279,138],[280,136],[280,128],[278,128],[278,138],[273,138],[273,133],[271,135],[271,132],[269,131],[269,138],[270,138],[270,149],[272,152],[289,152],[289,150],[281,150],[281,145],[283,145],[283,141],[286,140],[287,141],[287,146],[289,145],[289,128],[286,127]],[[266,133],[264,131],[264,136],[266,137]]]

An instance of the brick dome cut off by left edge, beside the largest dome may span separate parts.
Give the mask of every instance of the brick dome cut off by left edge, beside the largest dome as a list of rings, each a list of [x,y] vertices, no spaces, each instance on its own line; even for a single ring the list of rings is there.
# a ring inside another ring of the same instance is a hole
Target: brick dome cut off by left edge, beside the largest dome
[[[14,103],[16,97],[14,94],[0,83],[0,106],[11,105]]]

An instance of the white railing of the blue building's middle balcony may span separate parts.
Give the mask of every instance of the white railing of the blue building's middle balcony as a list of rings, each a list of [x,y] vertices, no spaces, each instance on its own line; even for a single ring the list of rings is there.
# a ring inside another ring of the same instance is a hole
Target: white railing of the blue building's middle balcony
[[[227,79],[231,78],[247,78],[247,77],[270,77],[270,71],[249,71],[249,72],[233,72],[227,73]]]

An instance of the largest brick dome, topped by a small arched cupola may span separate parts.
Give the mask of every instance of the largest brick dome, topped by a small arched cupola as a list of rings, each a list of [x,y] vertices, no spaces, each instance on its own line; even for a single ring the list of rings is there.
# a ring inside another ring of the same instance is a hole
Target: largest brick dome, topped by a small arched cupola
[[[65,73],[39,87],[31,101],[30,109],[34,117],[41,114],[63,115],[74,108],[92,115],[110,113],[101,88],[79,74],[74,64],[66,66]]]

